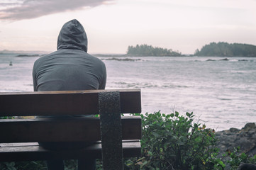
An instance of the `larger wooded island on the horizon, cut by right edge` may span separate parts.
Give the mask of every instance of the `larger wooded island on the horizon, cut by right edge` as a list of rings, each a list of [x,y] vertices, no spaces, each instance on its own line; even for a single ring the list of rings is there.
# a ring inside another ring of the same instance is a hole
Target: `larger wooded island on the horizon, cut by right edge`
[[[211,42],[196,50],[195,56],[207,57],[256,57],[256,46],[228,42]]]

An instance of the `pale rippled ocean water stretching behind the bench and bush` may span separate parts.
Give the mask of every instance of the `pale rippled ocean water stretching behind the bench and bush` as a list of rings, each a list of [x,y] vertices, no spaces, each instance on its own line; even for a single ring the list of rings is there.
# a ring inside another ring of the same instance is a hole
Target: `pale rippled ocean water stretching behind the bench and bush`
[[[33,91],[38,57],[17,55],[0,54],[0,92]],[[217,131],[256,122],[256,57],[99,58],[106,89],[141,89],[142,113],[193,112]]]

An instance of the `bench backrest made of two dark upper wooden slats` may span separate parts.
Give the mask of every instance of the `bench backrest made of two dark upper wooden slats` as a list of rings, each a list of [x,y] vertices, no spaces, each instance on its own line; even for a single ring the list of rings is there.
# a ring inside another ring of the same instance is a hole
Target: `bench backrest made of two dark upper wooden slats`
[[[95,91],[0,93],[0,116],[99,114]],[[140,90],[119,90],[121,113],[140,113]],[[104,105],[104,103],[103,103]],[[119,113],[120,114],[120,113]],[[113,123],[113,120],[110,120]],[[123,140],[140,139],[140,118],[122,119]],[[86,132],[86,133],[84,133]],[[99,118],[0,120],[0,142],[69,142],[101,140]]]

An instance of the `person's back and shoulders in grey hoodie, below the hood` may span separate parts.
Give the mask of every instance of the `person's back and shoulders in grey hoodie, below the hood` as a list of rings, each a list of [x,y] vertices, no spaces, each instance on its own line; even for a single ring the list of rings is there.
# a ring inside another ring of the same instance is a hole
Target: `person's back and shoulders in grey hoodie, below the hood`
[[[33,79],[34,91],[104,89],[106,68],[82,50],[64,49],[37,60]]]

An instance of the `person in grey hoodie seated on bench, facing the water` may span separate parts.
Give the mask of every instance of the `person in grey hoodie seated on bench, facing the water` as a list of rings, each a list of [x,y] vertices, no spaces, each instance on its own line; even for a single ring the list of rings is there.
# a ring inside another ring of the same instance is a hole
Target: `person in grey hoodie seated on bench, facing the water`
[[[57,38],[57,51],[35,61],[33,86],[34,91],[105,89],[105,64],[87,53],[87,34],[79,21],[74,19],[65,23]],[[48,149],[84,146],[60,142],[40,145]],[[95,165],[95,160],[78,161],[78,169],[95,169]],[[48,169],[64,169],[63,161],[48,161]]]

